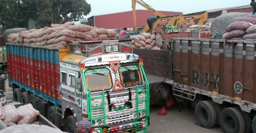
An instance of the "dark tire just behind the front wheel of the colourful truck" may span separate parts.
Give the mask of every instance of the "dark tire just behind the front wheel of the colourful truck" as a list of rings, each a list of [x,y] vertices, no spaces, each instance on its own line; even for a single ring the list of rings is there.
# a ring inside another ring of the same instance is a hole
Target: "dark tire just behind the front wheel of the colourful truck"
[[[47,113],[47,119],[51,121],[56,127],[61,129],[61,119],[59,118],[59,115],[57,114],[57,110],[55,106],[51,106]]]

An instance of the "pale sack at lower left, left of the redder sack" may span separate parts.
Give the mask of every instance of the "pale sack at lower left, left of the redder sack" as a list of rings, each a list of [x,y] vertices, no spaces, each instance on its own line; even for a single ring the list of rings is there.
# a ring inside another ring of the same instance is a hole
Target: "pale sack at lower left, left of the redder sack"
[[[3,123],[7,124],[9,122],[16,123],[21,117],[22,114],[15,108],[14,105],[4,105],[3,111],[5,114],[5,118],[3,119]]]

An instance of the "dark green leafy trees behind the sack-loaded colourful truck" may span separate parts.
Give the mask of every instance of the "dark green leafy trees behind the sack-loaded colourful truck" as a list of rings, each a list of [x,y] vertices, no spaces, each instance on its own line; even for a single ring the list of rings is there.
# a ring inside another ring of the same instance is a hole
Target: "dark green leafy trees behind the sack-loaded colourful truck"
[[[91,11],[85,0],[1,0],[0,25],[3,29],[28,28],[30,19],[38,28],[78,21]]]

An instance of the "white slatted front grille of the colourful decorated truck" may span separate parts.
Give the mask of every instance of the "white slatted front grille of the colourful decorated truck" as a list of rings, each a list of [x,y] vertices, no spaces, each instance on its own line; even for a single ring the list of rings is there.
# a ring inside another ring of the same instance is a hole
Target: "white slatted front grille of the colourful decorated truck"
[[[125,102],[128,102],[129,96],[128,94],[122,95],[122,97],[117,97],[116,95],[110,94],[110,101],[112,104],[118,108],[119,106],[124,106]],[[139,100],[145,99],[146,94],[139,93]],[[105,95],[105,112],[106,112],[106,122],[107,124],[114,124],[118,122],[125,122],[129,120],[136,119],[136,93],[132,93],[132,108],[126,107],[124,110],[115,111],[112,108],[109,111],[108,100],[106,99]],[[99,99],[97,102],[91,103],[92,107],[102,106],[102,100]],[[139,102],[139,109],[144,109],[146,107],[146,102]],[[103,109],[94,109],[92,110],[92,117],[101,117],[103,116]],[[103,120],[102,120],[103,122]]]

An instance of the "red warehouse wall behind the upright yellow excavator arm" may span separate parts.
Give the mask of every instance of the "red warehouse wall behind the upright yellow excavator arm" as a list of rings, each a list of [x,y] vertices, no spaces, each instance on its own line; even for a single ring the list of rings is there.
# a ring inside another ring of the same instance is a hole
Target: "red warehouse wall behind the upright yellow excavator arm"
[[[182,12],[160,12],[167,16],[182,14]],[[156,15],[147,10],[136,10],[137,26],[145,26],[147,18],[152,16]],[[95,16],[95,26],[105,29],[133,28],[132,11]]]

